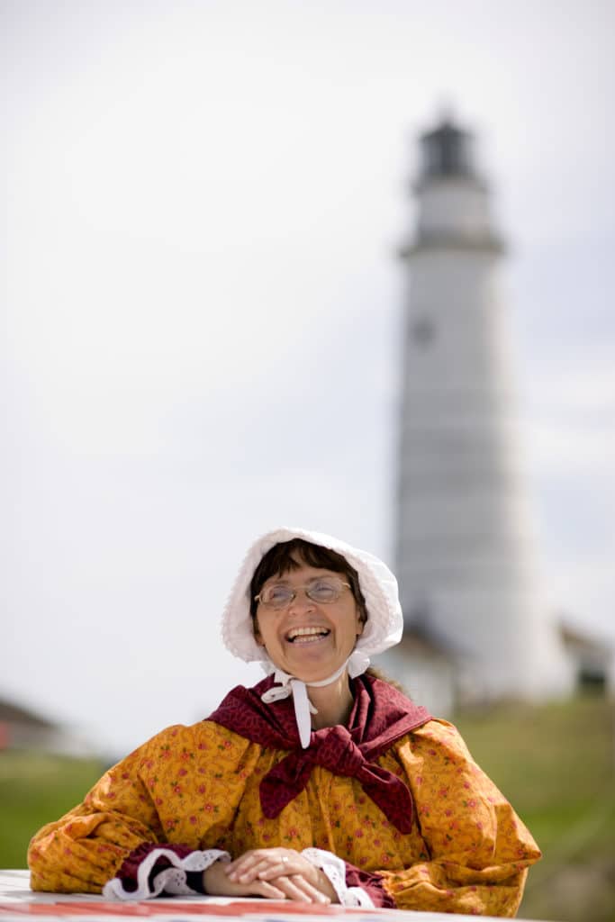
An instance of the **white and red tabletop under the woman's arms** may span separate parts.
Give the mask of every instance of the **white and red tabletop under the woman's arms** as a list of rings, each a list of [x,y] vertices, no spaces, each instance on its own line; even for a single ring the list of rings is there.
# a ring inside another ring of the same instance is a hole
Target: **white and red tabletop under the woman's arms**
[[[230,911],[230,905],[233,908]],[[305,904],[279,903],[273,900],[248,900],[224,896],[158,897],[138,903],[110,902],[92,893],[33,893],[30,871],[0,870],[0,922],[27,922],[38,916],[40,922],[113,922],[129,916],[151,917],[152,922],[227,922],[242,917],[246,922],[323,922],[328,916],[347,916],[354,922],[476,922],[477,916],[451,916],[444,913],[419,913],[401,909],[323,909]],[[80,911],[81,910],[81,911]],[[482,916],[482,918],[494,916]],[[519,922],[539,922],[520,919]]]

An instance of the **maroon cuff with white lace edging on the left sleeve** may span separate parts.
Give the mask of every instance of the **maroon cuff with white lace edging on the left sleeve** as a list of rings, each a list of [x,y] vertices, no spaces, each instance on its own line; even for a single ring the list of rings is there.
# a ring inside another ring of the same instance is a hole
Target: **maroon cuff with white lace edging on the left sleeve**
[[[102,888],[107,899],[148,900],[165,893],[193,896],[204,893],[202,873],[215,861],[230,861],[219,848],[198,851],[187,845],[139,845],[124,859],[112,881]]]

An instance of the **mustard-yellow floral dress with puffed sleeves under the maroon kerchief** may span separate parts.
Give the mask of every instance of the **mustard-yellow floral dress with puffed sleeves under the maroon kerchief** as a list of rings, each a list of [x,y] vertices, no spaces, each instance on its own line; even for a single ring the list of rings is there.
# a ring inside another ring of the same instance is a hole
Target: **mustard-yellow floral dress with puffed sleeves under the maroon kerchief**
[[[324,849],[360,876],[376,875],[400,909],[515,915],[540,852],[451,724],[430,719],[375,760],[408,786],[408,833],[355,777],[318,764],[296,797],[267,818],[259,786],[288,755],[213,720],[163,730],[34,836],[32,889],[101,892],[144,843],[222,849],[231,857],[284,845]]]

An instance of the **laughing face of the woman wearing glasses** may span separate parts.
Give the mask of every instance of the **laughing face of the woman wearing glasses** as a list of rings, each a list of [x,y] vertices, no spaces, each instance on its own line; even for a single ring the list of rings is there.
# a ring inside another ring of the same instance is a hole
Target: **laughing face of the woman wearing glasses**
[[[363,632],[359,607],[349,588],[344,587],[335,602],[316,603],[301,586],[322,577],[348,582],[343,573],[303,564],[290,573],[273,576],[268,585],[297,588],[285,609],[259,603],[254,619],[256,643],[265,647],[276,667],[302,681],[319,681],[333,675],[348,659],[357,637]]]

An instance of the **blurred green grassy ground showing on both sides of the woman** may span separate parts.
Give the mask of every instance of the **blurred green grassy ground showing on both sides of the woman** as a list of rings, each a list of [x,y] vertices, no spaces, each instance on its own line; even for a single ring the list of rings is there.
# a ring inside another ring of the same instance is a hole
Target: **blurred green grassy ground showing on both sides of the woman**
[[[613,703],[502,705],[455,724],[543,851],[519,915],[614,922]],[[32,833],[80,801],[101,771],[95,761],[0,753],[0,867],[23,868]]]

